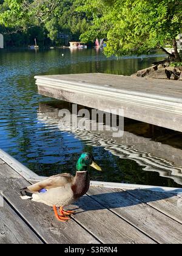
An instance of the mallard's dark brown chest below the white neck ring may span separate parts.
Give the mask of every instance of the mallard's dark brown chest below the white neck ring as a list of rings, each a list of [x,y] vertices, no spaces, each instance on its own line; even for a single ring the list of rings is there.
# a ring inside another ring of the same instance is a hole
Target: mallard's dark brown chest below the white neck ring
[[[75,199],[87,193],[90,187],[90,177],[87,171],[76,172],[75,180],[72,185],[73,196]]]

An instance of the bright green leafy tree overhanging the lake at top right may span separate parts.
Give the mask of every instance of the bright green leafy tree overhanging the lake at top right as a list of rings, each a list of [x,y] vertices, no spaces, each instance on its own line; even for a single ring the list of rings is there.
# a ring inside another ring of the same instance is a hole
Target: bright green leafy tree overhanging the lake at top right
[[[174,46],[171,55],[180,61],[177,35],[182,27],[181,0],[82,0],[78,11],[93,19],[81,40],[107,38],[106,55],[138,54]]]

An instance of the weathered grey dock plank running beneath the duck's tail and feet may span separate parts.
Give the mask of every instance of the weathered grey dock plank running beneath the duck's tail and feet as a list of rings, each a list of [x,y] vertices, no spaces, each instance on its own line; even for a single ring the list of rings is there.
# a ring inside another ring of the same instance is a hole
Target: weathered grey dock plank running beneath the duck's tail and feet
[[[0,172],[0,187],[2,194],[27,221],[45,243],[99,243],[92,235],[84,230],[73,219],[67,223],[58,222],[50,207],[23,201],[19,197],[19,189],[29,183],[10,166],[3,165]]]

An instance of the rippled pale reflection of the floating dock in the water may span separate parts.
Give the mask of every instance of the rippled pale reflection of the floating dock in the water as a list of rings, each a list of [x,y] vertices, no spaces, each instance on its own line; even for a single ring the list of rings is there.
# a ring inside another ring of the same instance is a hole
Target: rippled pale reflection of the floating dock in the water
[[[62,132],[73,133],[86,144],[101,146],[120,158],[134,160],[143,166],[144,171],[158,172],[161,177],[173,179],[174,182],[182,185],[181,149],[130,132],[124,132],[123,137],[113,138],[112,131],[73,128],[71,123],[61,122],[58,108],[47,104],[39,105],[38,119],[48,126],[58,126]]]

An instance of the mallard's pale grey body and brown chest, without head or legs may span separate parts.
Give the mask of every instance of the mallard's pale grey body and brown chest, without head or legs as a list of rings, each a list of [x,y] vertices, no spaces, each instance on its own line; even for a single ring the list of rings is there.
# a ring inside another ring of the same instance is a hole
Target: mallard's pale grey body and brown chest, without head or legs
[[[64,207],[73,204],[79,197],[86,194],[89,186],[89,173],[87,171],[77,171],[75,177],[71,174],[58,174],[31,185],[26,189],[32,193],[32,201],[40,202],[51,207],[53,205]],[[47,191],[45,193],[39,193],[38,191],[43,188]],[[27,199],[27,197],[22,196],[22,199]]]

